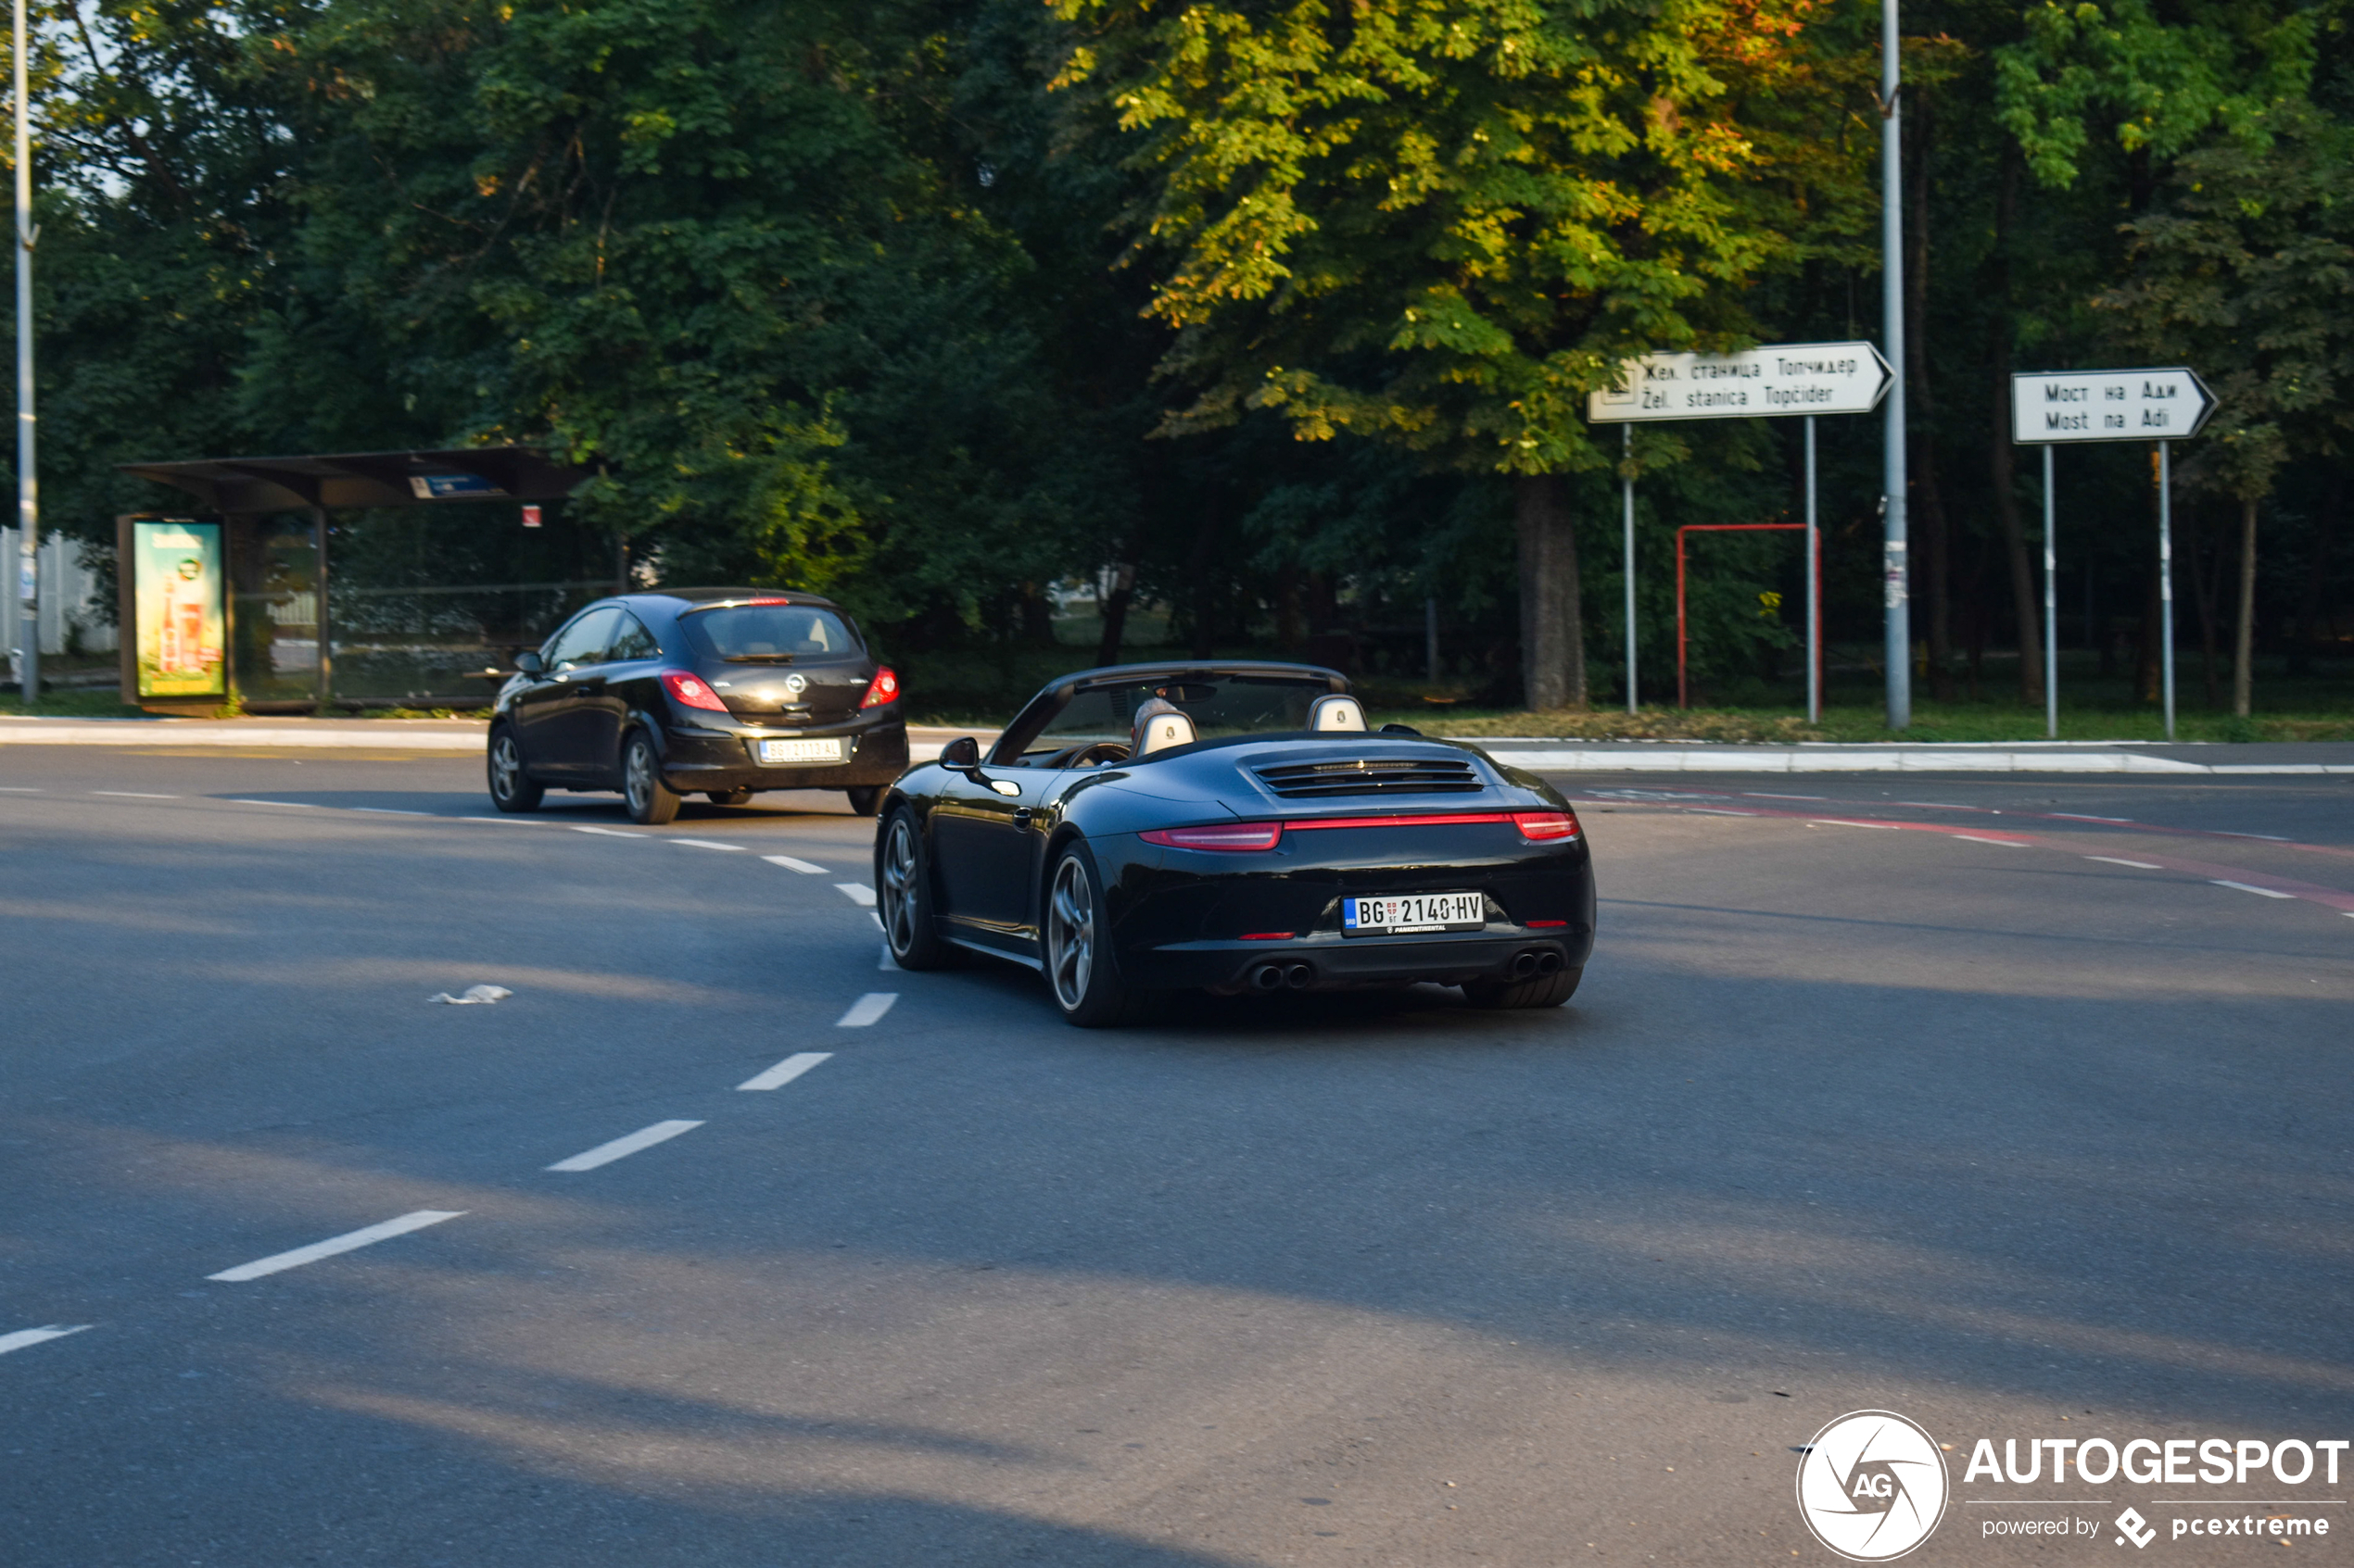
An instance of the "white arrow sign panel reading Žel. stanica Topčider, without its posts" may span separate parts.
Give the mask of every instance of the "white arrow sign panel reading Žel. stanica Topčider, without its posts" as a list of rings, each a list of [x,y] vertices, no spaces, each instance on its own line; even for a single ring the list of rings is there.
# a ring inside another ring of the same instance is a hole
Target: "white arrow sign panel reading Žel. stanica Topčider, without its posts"
[[[1888,360],[1871,343],[1768,343],[1737,355],[1643,355],[1624,381],[1587,395],[1587,418],[1784,418],[1869,414],[1888,393]]]

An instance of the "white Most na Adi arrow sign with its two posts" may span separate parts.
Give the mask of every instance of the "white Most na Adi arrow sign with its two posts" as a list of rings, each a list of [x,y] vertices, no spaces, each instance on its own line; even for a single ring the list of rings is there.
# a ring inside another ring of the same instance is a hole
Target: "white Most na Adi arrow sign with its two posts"
[[[2196,371],[2020,371],[2010,376],[2010,442],[2043,447],[2043,729],[2060,738],[2057,552],[2053,548],[2053,447],[2076,442],[2159,444],[2159,665],[2166,738],[2175,738],[2175,484],[2168,447],[2199,435],[2215,393]],[[2024,628],[2022,628],[2024,630]],[[2024,651],[2024,649],[2022,649]]]

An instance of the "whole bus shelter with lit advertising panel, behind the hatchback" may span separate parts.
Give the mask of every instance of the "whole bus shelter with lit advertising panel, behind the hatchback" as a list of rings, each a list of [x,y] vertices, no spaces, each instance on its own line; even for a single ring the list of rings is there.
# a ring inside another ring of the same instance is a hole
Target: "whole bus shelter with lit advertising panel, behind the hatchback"
[[[588,470],[537,447],[198,458],[122,463],[122,473],[195,503],[188,515],[115,520],[122,698],[141,708],[478,705],[487,661],[537,644],[629,576],[621,541],[610,552],[600,543],[596,557],[565,538],[567,550],[499,541],[431,559],[424,536],[450,538],[443,524],[480,543],[560,515]],[[414,508],[407,531],[419,550],[388,567],[381,541],[386,524],[403,531],[395,508]],[[424,524],[424,508],[443,515]],[[353,550],[337,520],[365,520],[363,538],[379,548]],[[346,543],[332,548],[339,534]],[[551,557],[567,569],[483,569]]]

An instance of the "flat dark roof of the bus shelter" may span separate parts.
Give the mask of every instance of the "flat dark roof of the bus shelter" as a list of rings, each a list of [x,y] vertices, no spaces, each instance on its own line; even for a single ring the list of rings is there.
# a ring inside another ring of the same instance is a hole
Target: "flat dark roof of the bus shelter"
[[[588,477],[586,468],[556,463],[539,447],[313,451],[290,458],[195,458],[120,463],[120,468],[188,491],[207,512],[224,515],[433,501],[563,501]]]

